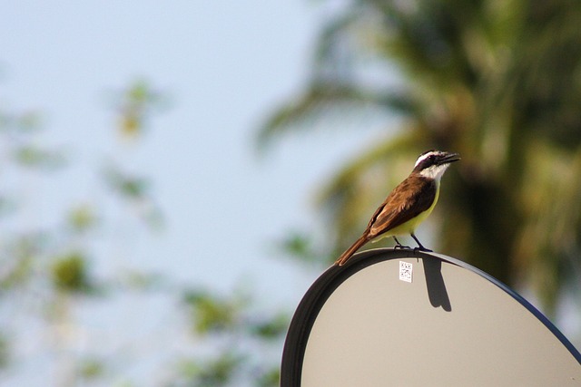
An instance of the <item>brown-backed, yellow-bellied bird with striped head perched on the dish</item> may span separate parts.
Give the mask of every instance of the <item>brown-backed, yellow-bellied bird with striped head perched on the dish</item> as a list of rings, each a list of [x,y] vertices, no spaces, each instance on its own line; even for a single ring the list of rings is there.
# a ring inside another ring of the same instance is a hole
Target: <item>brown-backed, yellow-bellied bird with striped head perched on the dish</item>
[[[360,247],[383,237],[393,237],[395,248],[409,248],[401,245],[397,238],[409,234],[418,243],[416,249],[432,251],[419,242],[415,230],[436,206],[440,179],[444,172],[452,162],[458,160],[458,153],[441,150],[427,150],[420,154],[408,178],[389,193],[369,220],[361,237],[340,255],[334,265],[345,265]]]

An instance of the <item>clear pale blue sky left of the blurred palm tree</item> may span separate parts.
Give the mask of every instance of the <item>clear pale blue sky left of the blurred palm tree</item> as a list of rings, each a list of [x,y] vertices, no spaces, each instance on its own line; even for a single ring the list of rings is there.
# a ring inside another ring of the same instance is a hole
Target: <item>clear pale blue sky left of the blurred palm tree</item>
[[[94,172],[113,159],[152,180],[166,227],[152,234],[124,213],[108,214],[117,235],[94,262],[103,276],[140,268],[226,294],[246,285],[268,295],[264,305],[294,307],[319,273],[273,259],[272,242],[317,226],[314,187],[365,140],[360,132],[291,136],[263,157],[254,140],[266,114],[307,81],[328,12],[300,0],[5,2],[0,101],[7,111],[41,111],[43,143],[64,149],[72,165],[50,179],[26,177],[22,226],[50,226],[72,203],[102,203]],[[111,95],[139,79],[165,92],[169,108],[153,116],[143,143],[119,144]],[[147,381],[143,370],[159,360],[155,343],[175,342],[160,317],[175,305],[132,296],[104,304],[76,305],[72,333],[55,329],[48,343],[33,343],[47,333],[23,319],[30,339],[16,358],[21,371],[35,372],[15,381],[56,383],[66,356],[54,353],[92,346],[141,353],[148,365],[132,377]],[[152,344],[135,347],[144,337]]]

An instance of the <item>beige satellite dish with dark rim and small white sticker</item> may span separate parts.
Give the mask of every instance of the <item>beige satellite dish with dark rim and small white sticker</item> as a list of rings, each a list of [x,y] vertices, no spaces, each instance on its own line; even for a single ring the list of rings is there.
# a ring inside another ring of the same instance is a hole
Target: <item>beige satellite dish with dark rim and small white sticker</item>
[[[458,259],[381,248],[298,306],[281,387],[581,386],[581,355],[520,295]]]

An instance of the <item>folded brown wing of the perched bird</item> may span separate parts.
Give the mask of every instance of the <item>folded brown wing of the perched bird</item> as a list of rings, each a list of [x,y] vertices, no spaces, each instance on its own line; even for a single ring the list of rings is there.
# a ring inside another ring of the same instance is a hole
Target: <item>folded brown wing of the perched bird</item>
[[[436,182],[421,176],[409,176],[391,191],[369,221],[369,237],[377,237],[391,228],[417,217],[436,197]]]

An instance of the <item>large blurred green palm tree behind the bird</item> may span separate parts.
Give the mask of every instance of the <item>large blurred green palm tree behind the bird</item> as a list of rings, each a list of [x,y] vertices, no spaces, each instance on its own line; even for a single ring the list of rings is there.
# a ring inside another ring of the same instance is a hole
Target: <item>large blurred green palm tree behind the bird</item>
[[[334,254],[419,152],[460,152],[430,218],[441,251],[531,287],[550,313],[581,267],[578,42],[576,0],[352,0],[322,30],[307,90],[260,139],[369,107],[399,117],[322,189]]]

